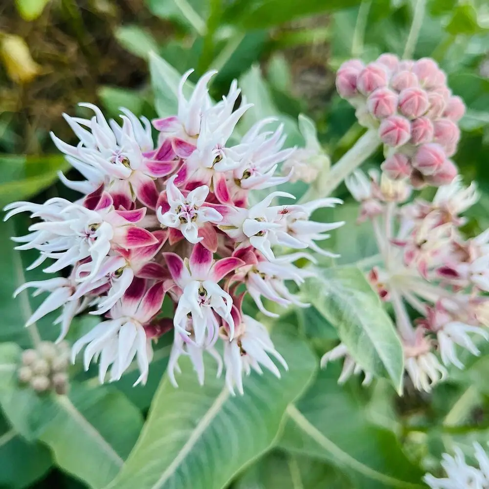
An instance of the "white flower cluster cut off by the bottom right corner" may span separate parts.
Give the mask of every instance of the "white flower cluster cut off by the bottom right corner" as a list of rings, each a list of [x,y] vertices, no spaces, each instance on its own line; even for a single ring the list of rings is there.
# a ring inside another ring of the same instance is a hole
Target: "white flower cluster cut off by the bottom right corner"
[[[481,445],[474,443],[474,455],[479,468],[467,464],[459,447],[455,447],[455,456],[443,454],[442,467],[446,477],[437,478],[431,474],[424,476],[424,482],[431,489],[486,489],[489,487],[489,457]]]

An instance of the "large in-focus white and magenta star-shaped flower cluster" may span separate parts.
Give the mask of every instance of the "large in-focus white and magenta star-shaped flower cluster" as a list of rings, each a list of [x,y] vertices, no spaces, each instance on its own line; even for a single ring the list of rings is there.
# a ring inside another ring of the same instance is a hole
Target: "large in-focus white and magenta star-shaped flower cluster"
[[[273,246],[328,254],[315,242],[340,226],[311,222],[318,207],[333,206],[337,199],[305,205],[272,205],[272,192],[249,205],[254,190],[289,180],[276,176],[279,163],[294,149],[282,149],[282,126],[270,129],[273,119],[256,123],[242,137],[235,126],[251,105],[241,97],[236,82],[218,103],[208,95],[214,72],[197,83],[189,99],[181,79],[178,114],[153,121],[158,132],[154,145],[150,122],[122,109],[121,122],[107,121],[90,104],[91,118],[64,115],[79,138],[71,146],[54,134],[53,141],[84,177],[67,187],[83,194],[70,202],[61,198],[44,204],[15,202],[6,207],[6,219],[30,212],[35,222],[29,234],[14,238],[17,249],[35,248],[40,257],[29,268],[47,261],[44,271],[64,271],[40,282],[24,284],[35,293],[48,292],[44,303],[27,324],[60,309],[56,323],[61,340],[74,315],[90,309],[104,314],[72,348],[73,361],[83,349],[85,368],[99,362],[100,381],[110,369],[119,379],[135,358],[144,383],[152,357],[152,340],[174,329],[169,376],[176,384],[178,358],[189,356],[200,382],[204,378],[203,353],[214,356],[231,391],[243,392],[242,376],[265,367],[277,377],[275,350],[266,328],[243,314],[244,294],[269,316],[262,297],[282,306],[305,306],[289,292],[285,282],[300,285],[307,271],[294,266],[303,251],[275,256]],[[214,254],[221,258],[214,260]],[[172,320],[161,317],[167,296],[174,303]]]

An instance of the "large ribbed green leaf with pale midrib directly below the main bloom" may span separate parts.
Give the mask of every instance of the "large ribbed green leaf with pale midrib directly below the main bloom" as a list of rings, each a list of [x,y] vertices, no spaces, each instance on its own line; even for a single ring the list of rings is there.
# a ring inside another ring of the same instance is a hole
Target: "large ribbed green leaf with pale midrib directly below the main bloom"
[[[273,334],[289,364],[278,379],[265,372],[244,380],[244,396],[233,397],[206,361],[201,387],[188,358],[182,358],[179,387],[165,378],[156,392],[144,430],[120,474],[117,489],[220,489],[251,460],[267,451],[284,411],[311,381],[316,359],[296,337]]]

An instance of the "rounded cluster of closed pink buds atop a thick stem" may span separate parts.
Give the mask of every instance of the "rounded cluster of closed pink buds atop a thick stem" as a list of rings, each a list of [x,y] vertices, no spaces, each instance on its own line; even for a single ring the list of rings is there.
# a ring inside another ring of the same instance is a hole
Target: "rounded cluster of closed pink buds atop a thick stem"
[[[336,88],[356,108],[360,124],[378,128],[382,170],[390,178],[409,178],[419,188],[448,184],[457,175],[449,158],[457,149],[465,105],[452,95],[434,60],[400,61],[393,54],[368,65],[349,60],[338,69]]]

